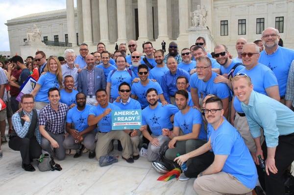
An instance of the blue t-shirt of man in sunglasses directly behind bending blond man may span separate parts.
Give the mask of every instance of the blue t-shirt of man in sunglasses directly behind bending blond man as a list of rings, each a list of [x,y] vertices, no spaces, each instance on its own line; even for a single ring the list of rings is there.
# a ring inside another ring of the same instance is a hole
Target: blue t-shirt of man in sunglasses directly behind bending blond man
[[[258,65],[256,65],[250,70],[247,70],[246,68],[244,68],[243,70],[239,72],[245,73],[251,78],[251,82],[253,84],[253,90],[258,93],[268,95],[266,88],[278,85],[278,81],[274,73],[271,71],[269,67],[263,64],[259,63]],[[241,102],[236,96],[234,98],[234,108],[236,112],[240,112],[240,113],[244,112],[243,109],[241,108]]]

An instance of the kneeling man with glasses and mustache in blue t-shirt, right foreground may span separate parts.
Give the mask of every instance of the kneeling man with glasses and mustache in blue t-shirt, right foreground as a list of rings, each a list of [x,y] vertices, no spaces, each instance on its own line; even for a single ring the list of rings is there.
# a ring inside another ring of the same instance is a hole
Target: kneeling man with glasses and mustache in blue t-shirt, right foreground
[[[199,173],[194,182],[197,195],[250,193],[257,182],[256,168],[240,133],[223,117],[221,99],[208,98],[204,113],[211,126],[209,141],[174,161],[182,165],[189,158],[212,150],[215,154],[213,163]]]

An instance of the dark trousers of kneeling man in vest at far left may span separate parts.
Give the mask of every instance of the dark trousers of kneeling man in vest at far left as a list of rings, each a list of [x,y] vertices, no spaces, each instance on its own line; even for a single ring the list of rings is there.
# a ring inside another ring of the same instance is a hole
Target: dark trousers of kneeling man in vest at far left
[[[9,139],[8,146],[14,151],[21,152],[23,164],[26,165],[30,164],[34,158],[39,158],[42,153],[41,146],[35,136],[31,139],[19,136],[12,137]]]

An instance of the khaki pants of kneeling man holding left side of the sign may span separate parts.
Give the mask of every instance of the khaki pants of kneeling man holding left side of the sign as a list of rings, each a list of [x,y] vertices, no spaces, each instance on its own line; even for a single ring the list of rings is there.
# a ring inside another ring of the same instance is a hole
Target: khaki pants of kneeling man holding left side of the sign
[[[130,136],[123,130],[111,130],[107,133],[97,133],[97,143],[96,143],[96,158],[99,160],[100,156],[109,154],[112,149],[112,140],[120,140],[123,146],[122,156],[126,159],[132,155],[132,145]]]

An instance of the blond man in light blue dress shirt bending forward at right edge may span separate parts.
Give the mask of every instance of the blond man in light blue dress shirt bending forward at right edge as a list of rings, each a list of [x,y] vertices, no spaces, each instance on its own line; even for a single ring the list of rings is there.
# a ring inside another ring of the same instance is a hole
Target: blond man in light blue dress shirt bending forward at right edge
[[[283,175],[294,160],[294,112],[280,102],[253,90],[246,75],[235,76],[232,85],[245,112],[250,133],[256,145],[254,161],[265,159],[266,173],[259,173],[259,180],[267,195],[284,195]],[[260,127],[266,141],[260,144]]]

